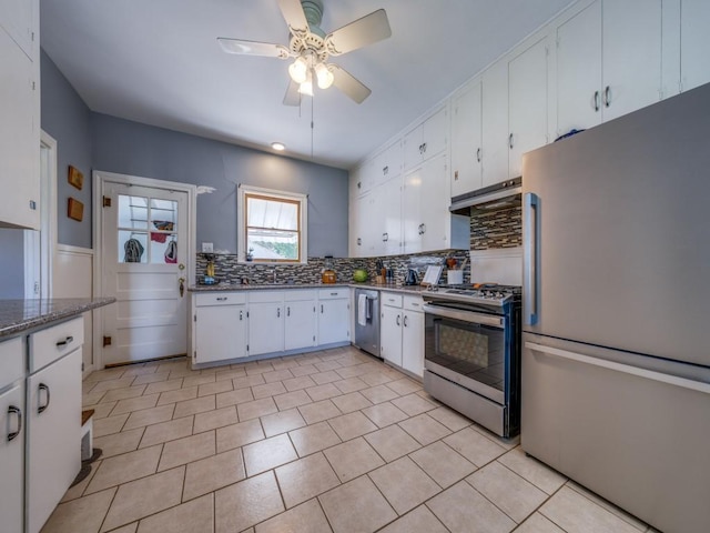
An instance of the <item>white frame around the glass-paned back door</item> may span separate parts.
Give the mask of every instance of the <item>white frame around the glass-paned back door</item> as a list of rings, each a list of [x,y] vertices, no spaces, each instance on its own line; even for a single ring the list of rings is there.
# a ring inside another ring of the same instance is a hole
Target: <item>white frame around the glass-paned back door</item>
[[[93,213],[92,213],[92,240],[93,240],[93,250],[94,250],[94,262],[93,262],[93,296],[101,298],[103,296],[103,262],[104,262],[104,250],[103,242],[101,235],[103,234],[103,222],[102,222],[102,205],[103,205],[103,191],[104,183],[121,183],[125,185],[138,185],[138,187],[148,187],[152,189],[164,189],[169,191],[179,191],[187,193],[187,255],[185,261],[185,279],[187,280],[187,286],[192,284],[192,280],[194,279],[195,272],[195,258],[196,258],[196,199],[197,199],[197,187],[190,183],[179,183],[176,181],[164,181],[156,180],[154,178],[142,178],[139,175],[130,175],[130,174],[119,174],[115,172],[105,172],[102,170],[94,170],[92,172],[93,177]],[[98,308],[94,310],[94,322],[93,322],[93,353],[94,353],[94,365],[95,370],[101,370],[104,368],[103,362],[103,308]],[[185,328],[189,331],[190,328],[190,311],[185,313]],[[185,350],[190,353],[190,338],[187,334],[187,345]]]

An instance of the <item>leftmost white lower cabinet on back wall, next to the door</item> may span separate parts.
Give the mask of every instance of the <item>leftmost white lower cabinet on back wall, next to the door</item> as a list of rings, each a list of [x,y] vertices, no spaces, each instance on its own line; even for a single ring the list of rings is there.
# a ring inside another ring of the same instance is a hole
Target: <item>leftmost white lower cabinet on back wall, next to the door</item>
[[[246,294],[197,294],[193,320],[194,364],[246,355]]]

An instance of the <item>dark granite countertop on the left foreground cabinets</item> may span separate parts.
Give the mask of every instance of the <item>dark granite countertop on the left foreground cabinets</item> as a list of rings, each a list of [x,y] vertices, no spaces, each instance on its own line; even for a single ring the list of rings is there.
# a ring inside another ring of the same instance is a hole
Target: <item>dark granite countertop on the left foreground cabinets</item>
[[[0,300],[0,340],[109,305],[115,298]]]

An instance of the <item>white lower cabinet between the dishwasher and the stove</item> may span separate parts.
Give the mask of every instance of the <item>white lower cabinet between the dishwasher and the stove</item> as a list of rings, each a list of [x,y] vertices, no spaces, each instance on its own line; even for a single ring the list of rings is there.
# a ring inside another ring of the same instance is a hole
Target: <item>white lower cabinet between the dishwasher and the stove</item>
[[[424,313],[420,296],[382,293],[381,355],[397,366],[424,375]]]

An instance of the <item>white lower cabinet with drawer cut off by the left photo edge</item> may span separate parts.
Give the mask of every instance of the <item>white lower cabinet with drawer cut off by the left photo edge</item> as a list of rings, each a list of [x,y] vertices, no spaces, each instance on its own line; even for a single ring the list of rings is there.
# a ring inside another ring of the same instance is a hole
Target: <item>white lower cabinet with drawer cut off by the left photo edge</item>
[[[24,345],[0,344],[0,516],[2,530],[21,532],[24,509]]]

